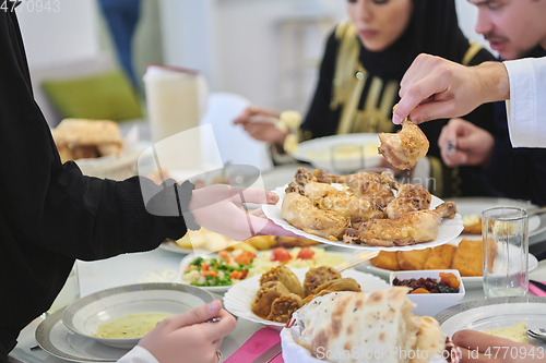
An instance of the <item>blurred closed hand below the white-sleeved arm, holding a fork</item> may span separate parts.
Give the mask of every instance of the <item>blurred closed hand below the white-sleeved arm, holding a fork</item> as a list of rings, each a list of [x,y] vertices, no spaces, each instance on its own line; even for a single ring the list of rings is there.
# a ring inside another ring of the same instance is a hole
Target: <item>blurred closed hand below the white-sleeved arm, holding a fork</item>
[[[438,146],[448,167],[485,167],[491,158],[495,138],[472,122],[451,119],[440,133]]]

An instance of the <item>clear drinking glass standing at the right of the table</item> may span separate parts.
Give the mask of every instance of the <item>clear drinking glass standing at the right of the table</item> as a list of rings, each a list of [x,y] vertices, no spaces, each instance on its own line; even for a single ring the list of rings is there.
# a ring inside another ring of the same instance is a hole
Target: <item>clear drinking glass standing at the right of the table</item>
[[[482,213],[486,298],[522,297],[529,291],[529,216],[498,207]]]

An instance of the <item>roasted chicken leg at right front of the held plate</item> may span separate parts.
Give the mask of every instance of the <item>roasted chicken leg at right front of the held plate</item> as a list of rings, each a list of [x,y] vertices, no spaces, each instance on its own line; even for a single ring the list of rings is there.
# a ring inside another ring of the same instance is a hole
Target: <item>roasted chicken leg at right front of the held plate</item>
[[[381,246],[434,241],[441,219],[453,218],[455,214],[455,204],[446,202],[436,209],[410,211],[397,219],[372,219],[360,226],[354,240]]]

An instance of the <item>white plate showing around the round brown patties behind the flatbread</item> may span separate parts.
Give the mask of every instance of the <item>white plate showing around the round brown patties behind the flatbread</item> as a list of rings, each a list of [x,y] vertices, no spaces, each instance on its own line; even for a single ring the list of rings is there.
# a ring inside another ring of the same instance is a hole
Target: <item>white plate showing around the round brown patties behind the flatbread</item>
[[[295,268],[294,274],[302,282],[306,277],[306,273],[309,268]],[[372,292],[384,290],[389,288],[389,283],[370,274],[364,274],[354,269],[346,269],[341,273],[342,277],[352,277],[360,285],[363,292]],[[251,302],[254,300],[254,295],[260,288],[260,275],[252,276],[251,278],[240,281],[234,285],[229,290],[227,290],[224,295],[224,306],[226,310],[237,317],[263,324],[269,328],[281,331],[285,326],[284,323],[276,323],[263,319],[252,313],[250,308]]]

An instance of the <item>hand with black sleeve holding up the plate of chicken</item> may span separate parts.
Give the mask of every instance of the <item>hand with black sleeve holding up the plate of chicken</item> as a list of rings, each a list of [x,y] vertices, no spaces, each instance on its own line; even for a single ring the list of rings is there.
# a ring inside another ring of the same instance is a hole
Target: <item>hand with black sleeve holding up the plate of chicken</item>
[[[278,195],[273,192],[217,184],[194,190],[188,209],[198,225],[236,241],[257,234],[299,237],[265,218],[261,208],[247,214],[242,207],[242,203],[277,202]]]

